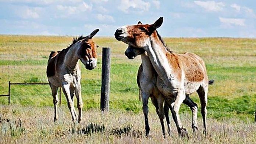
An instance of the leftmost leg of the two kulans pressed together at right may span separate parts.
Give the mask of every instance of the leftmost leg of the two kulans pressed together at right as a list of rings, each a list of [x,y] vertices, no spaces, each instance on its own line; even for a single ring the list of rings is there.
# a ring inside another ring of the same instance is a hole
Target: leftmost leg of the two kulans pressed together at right
[[[142,91],[142,110],[145,118],[145,130],[146,130],[146,136],[149,135],[149,121],[148,121],[148,114],[149,114],[149,107],[147,106],[149,102],[149,94]]]

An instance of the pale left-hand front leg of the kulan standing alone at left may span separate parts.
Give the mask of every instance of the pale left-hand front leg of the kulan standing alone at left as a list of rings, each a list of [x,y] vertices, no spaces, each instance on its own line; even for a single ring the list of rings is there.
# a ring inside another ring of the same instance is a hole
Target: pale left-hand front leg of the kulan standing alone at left
[[[70,84],[68,84],[68,83],[63,84],[62,85],[62,90],[63,90],[63,93],[65,94],[66,99],[67,99],[68,108],[70,109],[72,120],[73,120],[73,122],[75,122],[76,117],[75,117],[75,114],[74,114],[74,102],[72,101],[71,95],[70,95]]]

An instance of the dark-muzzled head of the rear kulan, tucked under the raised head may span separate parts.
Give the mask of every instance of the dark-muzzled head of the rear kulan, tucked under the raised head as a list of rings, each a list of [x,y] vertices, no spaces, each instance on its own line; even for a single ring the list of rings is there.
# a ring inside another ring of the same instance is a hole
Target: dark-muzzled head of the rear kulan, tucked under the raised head
[[[139,21],[138,25],[142,25],[142,23]],[[125,50],[124,54],[127,58],[130,60],[134,59],[136,56],[144,54],[145,50],[143,48],[136,48],[134,46],[128,46],[128,48]]]

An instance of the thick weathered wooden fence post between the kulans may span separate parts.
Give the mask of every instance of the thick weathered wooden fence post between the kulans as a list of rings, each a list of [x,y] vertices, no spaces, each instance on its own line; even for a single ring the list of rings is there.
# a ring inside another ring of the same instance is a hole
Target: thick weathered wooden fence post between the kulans
[[[110,48],[102,48],[102,86],[100,93],[100,109],[102,112],[109,111],[109,93],[110,93]]]

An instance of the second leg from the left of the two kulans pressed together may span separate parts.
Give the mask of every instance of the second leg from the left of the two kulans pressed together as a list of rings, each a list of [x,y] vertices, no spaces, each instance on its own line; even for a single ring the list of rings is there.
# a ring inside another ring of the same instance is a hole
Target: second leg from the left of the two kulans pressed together
[[[156,98],[154,96],[150,97],[153,105],[156,107],[156,113],[160,119],[161,127],[162,127],[162,133],[163,136],[165,137],[165,130],[164,130],[164,111],[163,111],[163,103],[164,99],[163,98]]]

